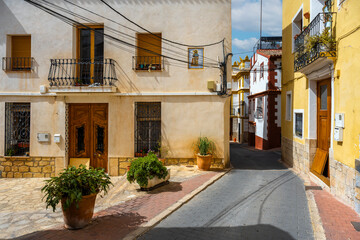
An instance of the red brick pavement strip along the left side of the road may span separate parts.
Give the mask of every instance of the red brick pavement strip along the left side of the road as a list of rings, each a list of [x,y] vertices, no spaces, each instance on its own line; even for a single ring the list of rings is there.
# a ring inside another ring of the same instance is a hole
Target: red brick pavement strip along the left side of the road
[[[209,172],[181,183],[170,182],[145,196],[107,208],[94,214],[92,223],[84,229],[67,230],[59,226],[27,234],[20,239],[122,239],[217,174]]]

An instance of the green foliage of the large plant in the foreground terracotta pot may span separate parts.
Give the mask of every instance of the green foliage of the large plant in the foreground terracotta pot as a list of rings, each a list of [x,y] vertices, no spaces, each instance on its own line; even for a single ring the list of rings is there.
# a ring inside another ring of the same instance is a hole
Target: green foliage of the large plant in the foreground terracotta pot
[[[52,177],[45,182],[45,186],[41,189],[41,192],[45,193],[43,199],[46,202],[46,209],[52,207],[54,212],[62,198],[66,199],[64,210],[68,209],[73,202],[78,208],[82,196],[102,191],[105,195],[110,185],[113,185],[103,168],[86,169],[84,165],[80,165],[79,168],[64,169],[58,177]]]

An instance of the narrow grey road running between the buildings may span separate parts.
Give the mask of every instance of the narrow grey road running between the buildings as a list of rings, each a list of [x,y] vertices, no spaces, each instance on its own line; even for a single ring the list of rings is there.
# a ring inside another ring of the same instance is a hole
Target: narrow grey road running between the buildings
[[[230,148],[234,169],[140,239],[313,239],[304,184],[280,154]]]

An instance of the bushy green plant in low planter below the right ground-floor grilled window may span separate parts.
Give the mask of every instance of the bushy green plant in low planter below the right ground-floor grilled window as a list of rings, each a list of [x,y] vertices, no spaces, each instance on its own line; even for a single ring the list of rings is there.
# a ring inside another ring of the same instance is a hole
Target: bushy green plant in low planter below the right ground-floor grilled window
[[[130,170],[127,172],[127,180],[130,183],[137,182],[141,187],[148,184],[148,179],[165,178],[168,172],[166,167],[159,161],[153,152],[145,157],[134,159],[131,162]]]

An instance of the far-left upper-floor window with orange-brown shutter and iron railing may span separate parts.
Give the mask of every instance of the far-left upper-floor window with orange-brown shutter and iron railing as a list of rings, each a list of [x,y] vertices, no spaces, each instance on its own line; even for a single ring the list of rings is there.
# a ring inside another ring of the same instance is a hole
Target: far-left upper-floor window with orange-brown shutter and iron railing
[[[10,56],[3,59],[4,71],[31,71],[31,36],[9,36]]]

